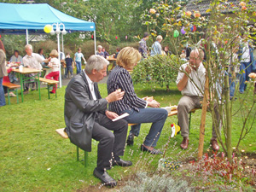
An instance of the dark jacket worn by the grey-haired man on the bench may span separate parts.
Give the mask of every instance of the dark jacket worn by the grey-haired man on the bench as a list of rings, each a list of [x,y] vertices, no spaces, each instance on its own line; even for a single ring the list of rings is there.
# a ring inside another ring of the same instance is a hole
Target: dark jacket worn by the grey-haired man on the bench
[[[108,107],[108,102],[105,98],[102,99],[96,83],[94,90],[96,101],[91,96],[89,84],[82,72],[67,84],[65,94],[64,118],[67,135],[71,143],[84,151],[91,151],[91,136],[96,114],[105,113]]]

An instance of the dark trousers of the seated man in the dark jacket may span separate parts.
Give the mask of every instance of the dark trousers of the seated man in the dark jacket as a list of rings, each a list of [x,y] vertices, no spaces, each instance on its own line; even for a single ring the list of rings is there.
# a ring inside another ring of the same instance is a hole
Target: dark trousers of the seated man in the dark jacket
[[[98,170],[109,169],[113,156],[124,155],[127,129],[128,125],[125,119],[113,122],[106,115],[98,113],[92,130],[92,138],[100,142],[97,154]]]

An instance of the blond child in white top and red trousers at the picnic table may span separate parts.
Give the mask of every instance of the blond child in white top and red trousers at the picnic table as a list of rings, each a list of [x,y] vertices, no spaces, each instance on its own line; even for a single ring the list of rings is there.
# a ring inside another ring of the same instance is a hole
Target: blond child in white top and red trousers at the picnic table
[[[59,75],[60,75],[60,67],[61,63],[58,59],[58,51],[56,49],[53,49],[49,56],[51,57],[48,67],[51,67],[52,72],[49,73],[48,75],[45,76],[46,79],[55,79],[56,81],[59,80]],[[57,84],[53,86],[53,89],[50,91],[50,93],[55,93],[55,90],[57,90]]]

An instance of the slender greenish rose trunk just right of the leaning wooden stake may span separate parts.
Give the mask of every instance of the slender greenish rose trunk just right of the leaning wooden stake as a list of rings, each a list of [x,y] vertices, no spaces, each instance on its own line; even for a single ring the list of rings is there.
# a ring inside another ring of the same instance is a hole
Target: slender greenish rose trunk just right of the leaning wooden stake
[[[227,137],[226,137],[226,147],[227,147],[227,156],[230,163],[232,162],[232,120],[231,120],[231,109],[230,109],[230,85],[229,85],[229,75],[224,77],[224,90],[225,91],[225,110],[226,110],[226,119],[227,119]]]

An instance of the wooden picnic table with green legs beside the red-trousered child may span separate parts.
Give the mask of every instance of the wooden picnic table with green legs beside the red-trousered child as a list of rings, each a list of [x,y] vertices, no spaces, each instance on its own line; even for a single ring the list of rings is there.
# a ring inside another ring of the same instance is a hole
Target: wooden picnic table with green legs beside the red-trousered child
[[[22,70],[20,71],[19,68],[13,69],[13,72],[15,73],[19,73],[20,74],[20,91],[21,91],[21,102],[24,101],[23,98],[23,84],[28,82],[29,79],[34,79],[35,82],[38,82],[38,93],[39,93],[39,100],[41,100],[41,93],[40,93],[40,72],[42,72],[42,70],[38,70],[35,68],[27,68],[27,67],[23,67]],[[36,73],[35,76],[33,77],[26,77],[26,74],[31,74],[31,73]]]

